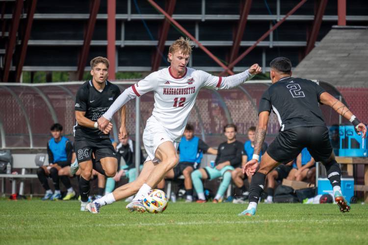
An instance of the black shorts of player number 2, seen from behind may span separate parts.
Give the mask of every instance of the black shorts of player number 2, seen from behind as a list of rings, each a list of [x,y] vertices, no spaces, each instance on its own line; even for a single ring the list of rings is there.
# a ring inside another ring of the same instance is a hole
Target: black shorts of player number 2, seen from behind
[[[304,147],[316,162],[327,160],[332,152],[327,127],[295,127],[281,131],[266,152],[275,161],[285,164],[294,160]]]

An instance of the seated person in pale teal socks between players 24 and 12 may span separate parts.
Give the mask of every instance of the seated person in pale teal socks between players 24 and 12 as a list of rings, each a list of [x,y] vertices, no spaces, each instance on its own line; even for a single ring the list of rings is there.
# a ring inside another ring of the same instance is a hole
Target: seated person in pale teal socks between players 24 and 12
[[[139,170],[142,170],[145,158],[143,158],[142,150],[140,152],[140,165]],[[127,176],[129,182],[133,182],[136,179],[135,168],[135,141],[129,138],[129,133],[124,139],[119,140],[119,145],[116,146],[116,153],[118,157],[118,169],[119,172],[112,178],[107,178],[105,195],[111,193],[115,189],[115,181],[119,182],[122,176]],[[125,165],[121,163],[121,158],[124,159]],[[131,202],[134,196],[128,197],[125,201]]]

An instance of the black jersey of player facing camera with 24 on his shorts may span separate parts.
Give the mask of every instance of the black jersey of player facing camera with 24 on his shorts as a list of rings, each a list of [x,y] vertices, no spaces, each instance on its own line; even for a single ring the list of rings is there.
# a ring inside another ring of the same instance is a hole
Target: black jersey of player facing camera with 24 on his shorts
[[[76,96],[76,111],[85,111],[85,117],[91,121],[97,120],[107,111],[110,105],[120,95],[120,89],[115,84],[106,80],[105,88],[102,92],[98,91],[92,81],[83,83],[78,89]],[[108,134],[104,134],[98,128],[88,128],[76,123],[74,127],[74,136],[78,138],[109,138]]]

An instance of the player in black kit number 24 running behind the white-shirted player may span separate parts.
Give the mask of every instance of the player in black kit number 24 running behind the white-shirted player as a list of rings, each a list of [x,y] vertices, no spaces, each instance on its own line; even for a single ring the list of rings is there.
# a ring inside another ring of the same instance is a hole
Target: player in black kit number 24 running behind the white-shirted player
[[[109,61],[104,57],[91,60],[92,80],[79,88],[76,97],[76,125],[74,127],[75,151],[81,170],[79,179],[79,193],[81,197],[81,211],[85,211],[88,203],[89,181],[92,169],[113,177],[117,171],[117,157],[111,144],[109,123],[104,131],[97,127],[97,120],[120,95],[118,86],[107,81]],[[127,134],[125,127],[126,107],[121,109],[121,126],[119,135]],[[94,158],[92,157],[94,153]]]

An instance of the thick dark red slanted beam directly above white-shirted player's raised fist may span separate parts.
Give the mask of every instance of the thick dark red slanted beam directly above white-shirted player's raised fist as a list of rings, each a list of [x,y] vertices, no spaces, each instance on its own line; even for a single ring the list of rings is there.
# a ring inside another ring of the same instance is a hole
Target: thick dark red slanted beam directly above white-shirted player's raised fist
[[[244,34],[245,25],[247,24],[251,5],[252,5],[252,0],[246,0],[243,6],[243,10],[241,11],[239,25],[237,26],[237,32],[236,32],[236,36],[233,42],[233,48],[231,49],[231,54],[230,54],[230,59],[229,59],[230,63],[235,60],[239,52],[240,42]]]

